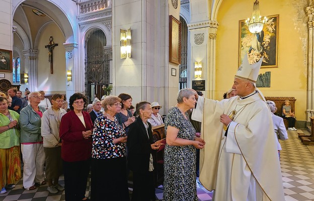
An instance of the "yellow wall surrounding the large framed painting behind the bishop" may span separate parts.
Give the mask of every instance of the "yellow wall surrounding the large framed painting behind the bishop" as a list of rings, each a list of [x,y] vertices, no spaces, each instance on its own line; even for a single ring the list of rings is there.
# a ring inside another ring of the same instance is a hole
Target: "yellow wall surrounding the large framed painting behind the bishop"
[[[307,28],[305,7],[307,1],[263,0],[261,16],[279,14],[278,68],[262,68],[260,73],[271,72],[271,87],[260,88],[265,96],[294,96],[295,114],[305,120],[306,111],[306,54]],[[224,0],[217,21],[216,91],[221,99],[233,83],[238,69],[239,20],[251,18],[253,1]]]

